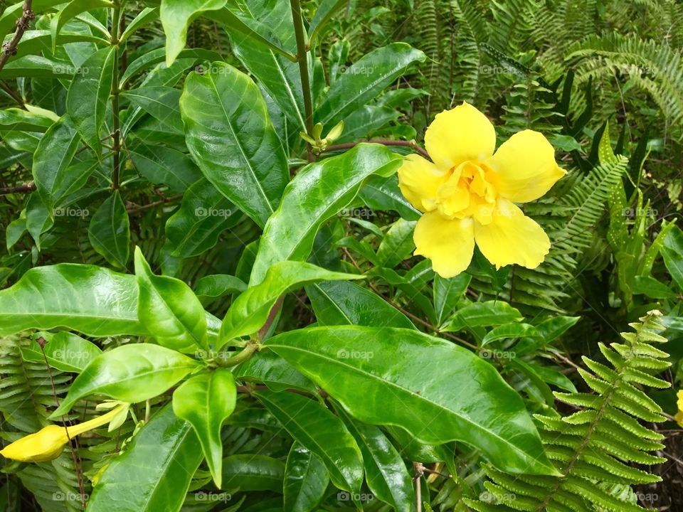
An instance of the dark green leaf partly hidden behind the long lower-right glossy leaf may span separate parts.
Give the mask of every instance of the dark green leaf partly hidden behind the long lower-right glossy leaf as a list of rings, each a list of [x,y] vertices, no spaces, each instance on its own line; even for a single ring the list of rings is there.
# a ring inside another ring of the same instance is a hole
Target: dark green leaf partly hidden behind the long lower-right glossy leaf
[[[306,287],[319,325],[360,325],[415,329],[406,315],[377,294],[346,281]]]

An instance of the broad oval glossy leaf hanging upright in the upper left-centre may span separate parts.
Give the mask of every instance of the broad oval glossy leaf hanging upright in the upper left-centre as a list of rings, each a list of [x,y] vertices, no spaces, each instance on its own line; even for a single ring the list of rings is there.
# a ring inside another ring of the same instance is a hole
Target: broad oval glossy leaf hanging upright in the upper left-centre
[[[188,149],[204,176],[263,227],[289,180],[260,90],[226,63],[191,73],[180,99]]]

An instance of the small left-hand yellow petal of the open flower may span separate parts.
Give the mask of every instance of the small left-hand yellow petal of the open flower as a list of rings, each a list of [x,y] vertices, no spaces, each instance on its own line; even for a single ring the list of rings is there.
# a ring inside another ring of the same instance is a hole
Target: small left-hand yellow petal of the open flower
[[[415,208],[425,212],[436,208],[436,191],[448,178],[448,171],[440,171],[422,156],[410,154],[398,169],[398,187]]]

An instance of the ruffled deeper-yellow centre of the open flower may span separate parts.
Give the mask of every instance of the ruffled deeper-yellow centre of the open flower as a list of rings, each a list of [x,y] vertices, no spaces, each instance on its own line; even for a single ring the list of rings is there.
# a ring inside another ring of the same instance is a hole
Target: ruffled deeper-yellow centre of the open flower
[[[498,195],[492,171],[480,161],[464,161],[452,167],[436,193],[438,211],[445,218],[474,217],[482,224],[492,220]]]

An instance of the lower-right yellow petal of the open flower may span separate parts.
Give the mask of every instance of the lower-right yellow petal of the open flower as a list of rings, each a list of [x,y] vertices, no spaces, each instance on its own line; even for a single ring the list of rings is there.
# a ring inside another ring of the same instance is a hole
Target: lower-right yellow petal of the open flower
[[[507,199],[498,198],[491,222],[475,222],[475,240],[482,254],[497,267],[536,268],[550,250],[543,228]]]

